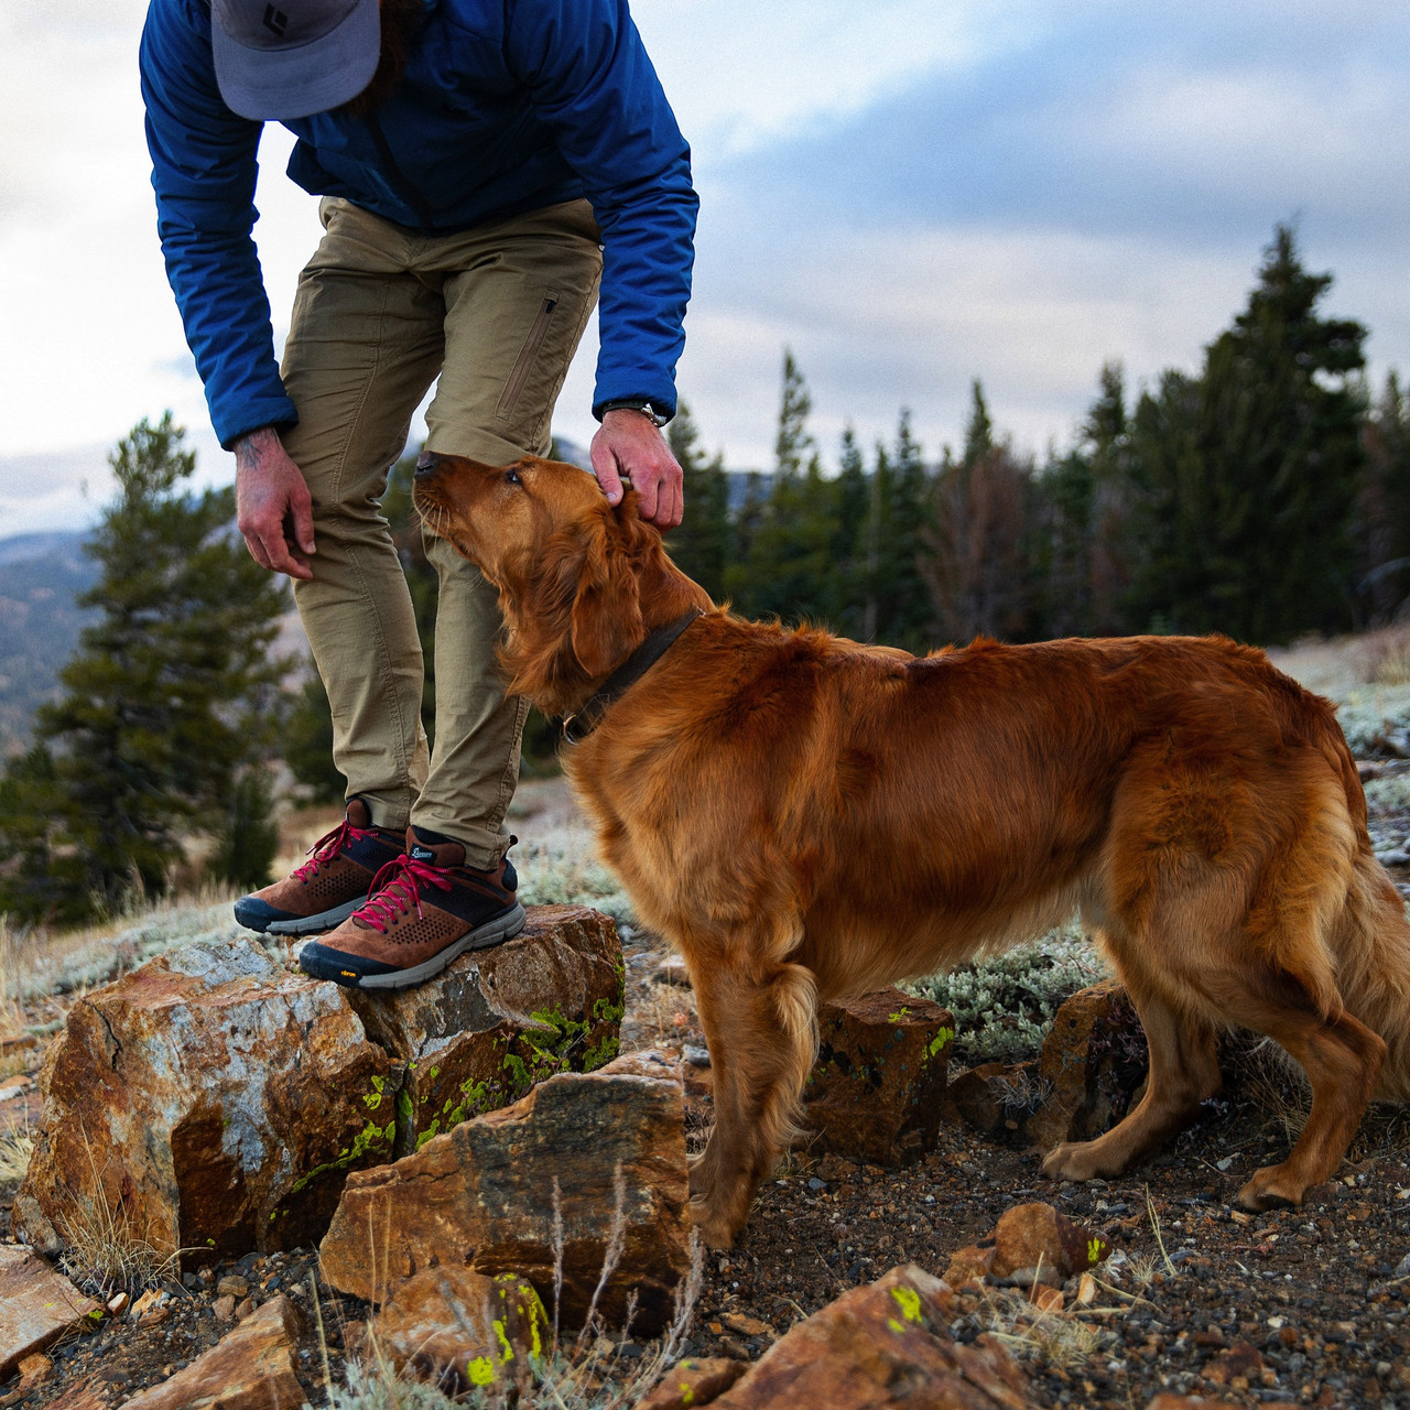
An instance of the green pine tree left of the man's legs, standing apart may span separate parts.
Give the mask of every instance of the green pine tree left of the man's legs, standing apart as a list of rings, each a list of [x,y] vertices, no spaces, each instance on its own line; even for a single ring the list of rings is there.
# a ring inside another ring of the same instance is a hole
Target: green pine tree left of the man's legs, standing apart
[[[168,413],[110,457],[118,495],[86,546],[102,575],[79,599],[102,615],[59,675],[63,697],[39,711],[39,752],[7,776],[52,808],[39,833],[6,836],[11,856],[47,857],[47,897],[14,871],[4,883],[27,915],[165,891],[192,833],[228,830],[269,742],[288,599],[231,533],[233,489],[183,491],[182,437]]]

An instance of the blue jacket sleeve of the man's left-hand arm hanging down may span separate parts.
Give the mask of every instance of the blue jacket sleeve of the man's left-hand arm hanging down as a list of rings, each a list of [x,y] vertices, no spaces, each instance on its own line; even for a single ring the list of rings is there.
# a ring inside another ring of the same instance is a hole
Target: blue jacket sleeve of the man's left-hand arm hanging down
[[[259,426],[299,416],[279,381],[269,299],[251,231],[262,124],[216,87],[209,10],[152,0],[140,66],[157,230],[186,341],[227,450]]]

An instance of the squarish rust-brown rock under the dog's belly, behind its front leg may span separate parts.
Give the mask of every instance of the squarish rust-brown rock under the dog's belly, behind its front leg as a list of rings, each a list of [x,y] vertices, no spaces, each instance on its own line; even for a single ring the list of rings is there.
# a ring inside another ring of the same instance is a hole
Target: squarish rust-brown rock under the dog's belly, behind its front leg
[[[818,1152],[895,1166],[935,1149],[955,1019],[898,988],[823,1004],[818,1065],[804,1086]]]

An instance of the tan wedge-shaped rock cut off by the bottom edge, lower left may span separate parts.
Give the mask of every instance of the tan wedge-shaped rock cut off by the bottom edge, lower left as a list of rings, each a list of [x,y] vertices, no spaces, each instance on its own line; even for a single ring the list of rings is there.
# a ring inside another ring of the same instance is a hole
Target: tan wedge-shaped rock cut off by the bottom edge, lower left
[[[299,1410],[306,1399],[295,1375],[302,1330],[298,1307],[279,1294],[123,1410]]]

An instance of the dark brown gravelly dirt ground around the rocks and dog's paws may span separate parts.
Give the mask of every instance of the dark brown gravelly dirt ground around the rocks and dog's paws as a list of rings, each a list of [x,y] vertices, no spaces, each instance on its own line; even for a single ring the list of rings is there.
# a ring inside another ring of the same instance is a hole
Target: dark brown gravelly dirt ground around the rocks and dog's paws
[[[522,809],[522,833],[540,807],[563,805],[553,785],[530,795],[541,804]],[[1410,836],[1410,814],[1378,814],[1373,833],[1378,847],[1399,845]],[[1393,874],[1410,891],[1410,867]],[[701,1046],[689,990],[654,977],[660,946],[637,933],[625,950],[623,1046]],[[52,1004],[42,1017],[52,1021]],[[737,1246],[709,1256],[689,1352],[756,1359],[849,1287],[904,1262],[943,1273],[950,1253],[987,1234],[1010,1206],[1045,1200],[1114,1246],[1096,1303],[1041,1316],[1018,1293],[995,1292],[964,1299],[952,1328],[962,1340],[984,1331],[1004,1338],[1028,1365],[1039,1404],[1142,1410],[1158,1392],[1175,1390],[1245,1406],[1410,1410],[1410,1111],[1373,1111],[1352,1158],[1303,1208],[1246,1215],[1231,1198],[1256,1166],[1286,1152],[1301,1098],[1246,1043],[1227,1045],[1225,1056],[1225,1090],[1203,1120],[1120,1180],[1043,1180],[1035,1152],[981,1138],[957,1120],[942,1127],[932,1153],[900,1170],[795,1152],[761,1189]],[[24,1066],[37,1063],[35,1050]],[[708,1074],[687,1070],[699,1141]],[[0,1183],[0,1237],[13,1194]],[[223,1277],[244,1280],[255,1301],[278,1290],[309,1308],[317,1301],[337,1373],[343,1327],[367,1308],[314,1286],[316,1258],[303,1249],[169,1282],[161,1321],[111,1317],[69,1337],[51,1351],[42,1385],[24,1393],[14,1380],[0,1385],[0,1406],[48,1406],[78,1386],[120,1404],[165,1379],[228,1330]],[[226,1283],[231,1289],[240,1290]],[[630,1362],[642,1351],[626,1338],[620,1356]],[[302,1358],[310,1400],[321,1404],[321,1351],[310,1341]]]

